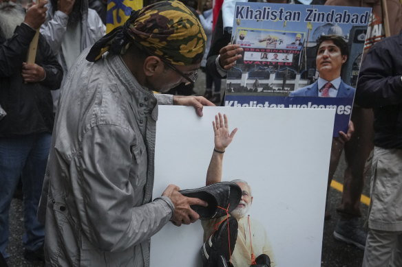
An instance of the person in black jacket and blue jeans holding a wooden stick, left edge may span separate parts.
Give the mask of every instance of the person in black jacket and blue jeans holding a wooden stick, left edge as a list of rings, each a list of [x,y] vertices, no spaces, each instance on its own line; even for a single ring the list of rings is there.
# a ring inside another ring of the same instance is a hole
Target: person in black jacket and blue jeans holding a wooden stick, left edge
[[[43,259],[44,227],[36,219],[53,128],[50,90],[58,89],[63,71],[40,36],[36,64],[26,63],[28,47],[45,21],[47,1],[24,13],[0,0],[0,253],[8,258],[8,212],[19,177],[23,181],[23,244],[26,259]],[[17,27],[17,28],[16,28]]]

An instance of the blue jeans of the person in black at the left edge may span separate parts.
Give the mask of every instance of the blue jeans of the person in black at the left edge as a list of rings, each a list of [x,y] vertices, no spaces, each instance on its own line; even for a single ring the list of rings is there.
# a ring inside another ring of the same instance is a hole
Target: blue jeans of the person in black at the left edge
[[[22,178],[25,249],[43,246],[45,229],[36,219],[52,135],[47,132],[21,137],[0,137],[0,253],[7,258],[8,213],[14,190]]]

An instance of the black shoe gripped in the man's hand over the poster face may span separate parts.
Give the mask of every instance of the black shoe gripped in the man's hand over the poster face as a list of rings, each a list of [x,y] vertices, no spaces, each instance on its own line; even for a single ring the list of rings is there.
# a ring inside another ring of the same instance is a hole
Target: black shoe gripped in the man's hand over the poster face
[[[191,206],[191,209],[200,215],[201,220],[225,216],[226,210],[224,209],[228,209],[230,213],[239,205],[242,199],[242,189],[231,182],[220,182],[197,189],[181,190],[180,193],[189,198],[200,198],[208,203],[208,207]]]

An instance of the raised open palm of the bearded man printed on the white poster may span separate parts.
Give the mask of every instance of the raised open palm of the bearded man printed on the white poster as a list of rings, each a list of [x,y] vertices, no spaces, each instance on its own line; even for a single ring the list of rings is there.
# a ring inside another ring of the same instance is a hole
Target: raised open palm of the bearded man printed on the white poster
[[[224,151],[233,140],[233,137],[235,137],[237,128],[235,128],[229,135],[228,117],[226,114],[222,117],[222,114],[220,113],[215,115],[215,121],[212,121],[212,125],[215,134],[215,150]]]

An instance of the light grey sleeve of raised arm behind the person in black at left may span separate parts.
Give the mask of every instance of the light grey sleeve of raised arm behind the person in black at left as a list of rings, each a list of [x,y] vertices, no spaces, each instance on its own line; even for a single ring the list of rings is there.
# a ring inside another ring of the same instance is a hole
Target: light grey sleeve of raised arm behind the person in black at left
[[[47,10],[47,18],[41,26],[41,34],[45,37],[50,47],[52,47],[54,54],[59,54],[61,41],[67,30],[68,15],[56,10],[52,17],[50,12],[50,10]]]

